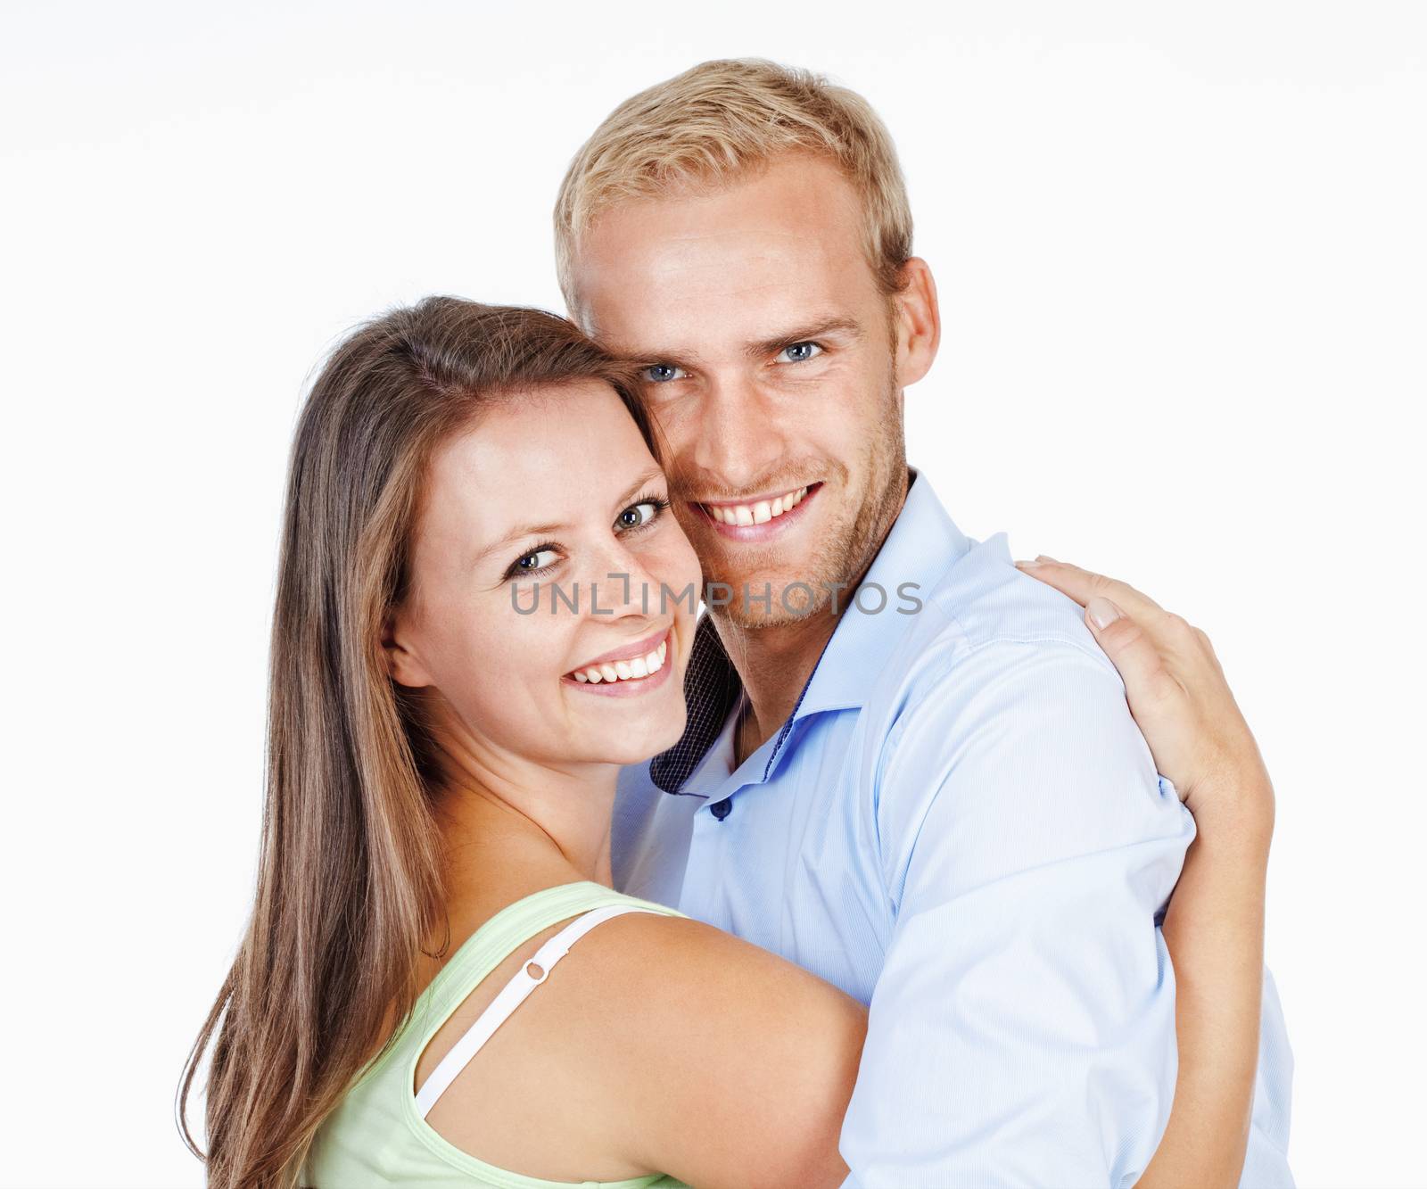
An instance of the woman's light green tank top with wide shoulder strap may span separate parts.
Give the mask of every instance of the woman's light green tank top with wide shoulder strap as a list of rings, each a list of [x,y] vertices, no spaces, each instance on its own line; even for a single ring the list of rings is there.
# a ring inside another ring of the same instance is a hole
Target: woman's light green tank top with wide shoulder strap
[[[422,1118],[414,1092],[417,1061],[447,1018],[537,934],[596,908],[629,905],[679,916],[672,908],[599,884],[562,884],[525,896],[477,929],[431,981],[395,1042],[352,1081],[318,1129],[298,1185],[310,1189],[686,1189],[658,1173],[632,1180],[542,1180],[462,1152]]]

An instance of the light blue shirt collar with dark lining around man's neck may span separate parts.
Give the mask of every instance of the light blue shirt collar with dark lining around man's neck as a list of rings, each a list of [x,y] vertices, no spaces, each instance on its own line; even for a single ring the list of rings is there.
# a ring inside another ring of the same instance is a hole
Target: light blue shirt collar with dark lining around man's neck
[[[772,771],[792,725],[811,714],[860,707],[869,675],[906,631],[910,615],[899,612],[909,598],[925,601],[946,570],[970,547],[942,508],[930,481],[908,468],[906,501],[858,588],[860,598],[839,591],[838,627],[818,658],[792,715],[778,732],[768,758]],[[903,594],[905,592],[905,594]],[[688,724],[679,741],[649,761],[649,778],[665,792],[679,792],[728,722],[743,685],[709,615],[694,632],[684,674]]]

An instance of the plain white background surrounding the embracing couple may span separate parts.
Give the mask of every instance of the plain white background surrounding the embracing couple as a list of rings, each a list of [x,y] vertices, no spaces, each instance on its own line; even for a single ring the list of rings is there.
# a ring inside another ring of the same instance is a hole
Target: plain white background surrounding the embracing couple
[[[17,10],[19,7],[19,10]],[[171,1106],[257,845],[304,383],[427,293],[559,308],[549,207],[701,59],[900,146],[958,524],[1204,627],[1279,794],[1300,1186],[1421,1185],[1420,4],[7,6],[10,1185],[198,1185]]]

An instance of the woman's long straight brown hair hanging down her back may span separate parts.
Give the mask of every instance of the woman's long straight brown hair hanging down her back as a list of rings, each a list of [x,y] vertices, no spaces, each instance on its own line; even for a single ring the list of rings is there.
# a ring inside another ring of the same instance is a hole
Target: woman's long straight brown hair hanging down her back
[[[290,1186],[323,1119],[417,998],[444,921],[434,742],[381,631],[410,585],[434,448],[495,394],[602,380],[645,441],[629,371],[539,310],[430,297],[354,331],[298,420],[273,615],[253,916],[184,1068],[205,1052],[208,1185]],[[397,1015],[392,1016],[395,1006]],[[390,1026],[390,1025],[388,1025]]]

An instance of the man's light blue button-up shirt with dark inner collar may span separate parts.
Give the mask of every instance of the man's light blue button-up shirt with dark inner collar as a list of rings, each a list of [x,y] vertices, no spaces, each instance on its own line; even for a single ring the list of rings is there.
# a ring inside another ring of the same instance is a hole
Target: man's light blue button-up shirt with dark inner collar
[[[1174,1091],[1159,922],[1193,818],[1082,609],[925,475],[860,590],[736,771],[701,622],[685,738],[621,775],[615,884],[869,1005],[846,1186],[1133,1185]],[[1266,972],[1244,1186],[1293,1183],[1291,1071]]]

